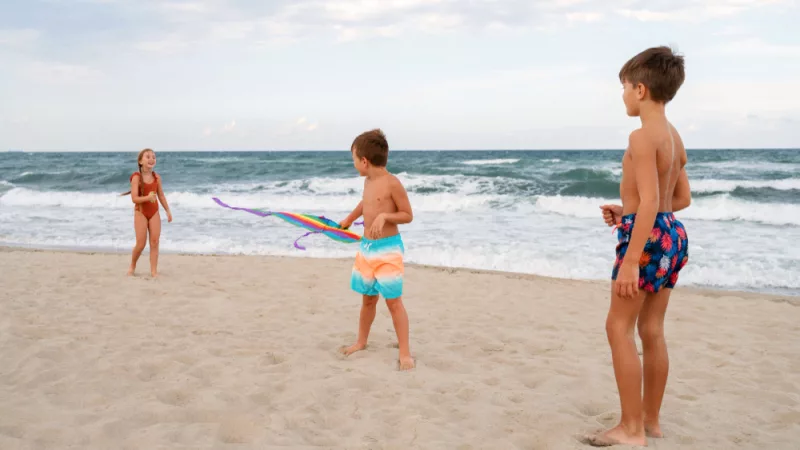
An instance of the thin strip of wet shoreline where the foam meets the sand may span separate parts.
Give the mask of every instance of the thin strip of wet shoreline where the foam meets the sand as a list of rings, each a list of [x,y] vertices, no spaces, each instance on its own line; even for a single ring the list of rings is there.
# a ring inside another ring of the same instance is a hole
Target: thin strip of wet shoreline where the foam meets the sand
[[[76,254],[76,255],[129,255],[129,250],[117,250],[113,248],[75,248],[75,247],[38,247],[38,246],[16,246],[16,245],[8,245],[2,244],[0,245],[0,254],[6,252],[14,252],[14,251],[22,251],[22,252],[32,252],[32,253],[65,253],[65,254]],[[149,248],[145,248],[145,251],[142,253],[142,256],[139,258],[139,270],[143,267],[142,264],[149,266]],[[173,252],[173,251],[161,251],[160,257],[164,256],[177,256],[177,257],[203,257],[203,258],[249,258],[249,259],[264,259],[264,260],[320,260],[320,261],[335,261],[340,263],[349,263],[352,262],[352,258],[336,258],[336,257],[313,257],[313,256],[287,256],[287,255],[247,255],[241,253],[189,253],[189,252]],[[473,269],[469,267],[448,267],[448,266],[435,266],[429,264],[417,264],[417,263],[405,263],[406,267],[415,267],[419,269],[425,270],[434,270],[440,272],[447,272],[450,274],[460,273],[460,274],[483,274],[483,275],[496,275],[496,276],[504,276],[506,278],[513,278],[513,279],[524,279],[524,280],[547,280],[553,282],[577,282],[577,283],[585,283],[587,285],[593,286],[602,286],[607,287],[609,280],[596,280],[596,279],[586,279],[586,278],[561,278],[561,277],[550,277],[545,275],[539,275],[535,273],[525,273],[525,272],[508,272],[502,270],[491,270],[491,269]],[[161,262],[159,261],[159,267],[163,267]],[[798,294],[782,294],[776,292],[768,292],[768,291],[756,291],[756,290],[740,290],[740,289],[724,289],[718,287],[711,287],[711,286],[678,286],[676,291],[687,291],[691,293],[695,293],[698,295],[702,295],[705,297],[712,297],[712,298],[719,298],[725,296],[736,296],[738,298],[759,298],[765,297],[766,300],[775,301],[775,302],[786,302],[790,303],[795,306],[800,306],[800,293]]]

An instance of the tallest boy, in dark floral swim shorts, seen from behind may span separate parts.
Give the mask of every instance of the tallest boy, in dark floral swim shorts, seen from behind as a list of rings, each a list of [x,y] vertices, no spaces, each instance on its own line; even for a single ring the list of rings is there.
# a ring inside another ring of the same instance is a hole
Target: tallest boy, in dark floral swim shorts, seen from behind
[[[600,207],[606,224],[617,226],[619,238],[606,334],[622,416],[619,425],[590,437],[589,443],[644,446],[646,436],[662,437],[659,411],[669,368],[664,315],[678,272],[688,261],[686,229],[673,215],[691,202],[686,149],[665,114],[685,78],[683,57],[668,47],[650,48],[625,63],[619,78],[628,116],[642,122],[622,158],[622,206]],[[644,398],[633,339],[637,324]]]

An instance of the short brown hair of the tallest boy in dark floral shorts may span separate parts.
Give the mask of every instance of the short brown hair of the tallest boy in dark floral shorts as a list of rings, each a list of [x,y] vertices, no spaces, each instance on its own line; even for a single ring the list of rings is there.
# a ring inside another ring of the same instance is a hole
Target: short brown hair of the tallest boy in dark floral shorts
[[[685,79],[683,56],[666,46],[648,48],[628,60],[619,71],[619,81],[642,83],[650,91],[650,98],[661,103],[675,98]]]

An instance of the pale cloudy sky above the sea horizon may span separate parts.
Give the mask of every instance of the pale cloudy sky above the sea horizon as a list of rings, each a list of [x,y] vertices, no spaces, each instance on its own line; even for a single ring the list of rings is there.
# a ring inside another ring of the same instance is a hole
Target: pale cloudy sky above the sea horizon
[[[689,148],[800,147],[800,0],[0,0],[0,151],[620,149],[670,45]]]

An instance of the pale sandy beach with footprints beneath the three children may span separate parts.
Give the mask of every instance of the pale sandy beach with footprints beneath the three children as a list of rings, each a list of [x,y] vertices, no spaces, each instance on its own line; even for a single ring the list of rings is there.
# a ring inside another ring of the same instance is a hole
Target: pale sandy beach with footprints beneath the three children
[[[410,266],[349,358],[342,260],[0,250],[0,448],[577,449],[613,425],[608,284]],[[609,268],[610,270],[610,268]],[[656,449],[795,449],[800,299],[678,289]]]

